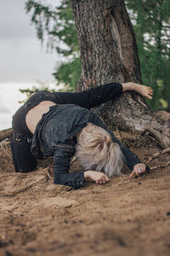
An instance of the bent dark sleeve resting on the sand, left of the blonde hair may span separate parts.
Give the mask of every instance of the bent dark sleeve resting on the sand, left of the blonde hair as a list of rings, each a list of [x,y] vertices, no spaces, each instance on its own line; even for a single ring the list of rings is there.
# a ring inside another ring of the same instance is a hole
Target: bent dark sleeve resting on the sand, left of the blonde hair
[[[75,149],[70,145],[59,145],[54,149],[54,184],[79,189],[84,183],[84,172],[69,173],[71,157]]]

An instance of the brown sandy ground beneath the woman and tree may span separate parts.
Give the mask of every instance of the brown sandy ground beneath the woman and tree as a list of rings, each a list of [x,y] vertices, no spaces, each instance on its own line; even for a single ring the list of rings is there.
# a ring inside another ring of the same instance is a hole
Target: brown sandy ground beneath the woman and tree
[[[161,149],[141,142],[125,141],[142,160]],[[170,166],[132,179],[125,166],[105,185],[71,191],[54,185],[48,170],[15,173],[0,153],[0,255],[170,255]]]

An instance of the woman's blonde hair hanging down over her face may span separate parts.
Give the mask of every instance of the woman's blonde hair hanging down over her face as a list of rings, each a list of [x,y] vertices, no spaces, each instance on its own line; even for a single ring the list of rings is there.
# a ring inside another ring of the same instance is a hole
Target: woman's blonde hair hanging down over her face
[[[122,175],[122,150],[112,142],[111,135],[97,125],[88,124],[77,136],[76,156],[86,171],[105,172],[108,177]]]

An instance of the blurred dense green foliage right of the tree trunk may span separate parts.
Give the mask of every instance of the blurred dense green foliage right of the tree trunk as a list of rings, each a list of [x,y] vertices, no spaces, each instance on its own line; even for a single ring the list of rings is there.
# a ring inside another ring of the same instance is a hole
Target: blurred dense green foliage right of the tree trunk
[[[126,0],[136,35],[144,84],[152,86],[154,109],[170,111],[169,0]]]

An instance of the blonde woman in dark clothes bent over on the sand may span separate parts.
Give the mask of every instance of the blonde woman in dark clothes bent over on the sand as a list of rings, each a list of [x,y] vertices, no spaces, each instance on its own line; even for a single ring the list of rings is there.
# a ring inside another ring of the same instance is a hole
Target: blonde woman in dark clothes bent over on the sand
[[[122,161],[132,171],[130,177],[144,173],[146,166],[138,156],[122,145],[89,110],[114,100],[126,90],[136,90],[149,99],[153,95],[150,87],[132,82],[100,85],[78,93],[38,91],[32,95],[13,118],[11,149],[15,171],[31,172],[37,168],[38,158],[54,155],[54,183],[74,189],[81,187],[88,177],[96,183],[108,182],[109,177],[120,173]],[[87,172],[69,173],[76,147],[77,158],[82,165],[85,163]],[[96,171],[91,171],[92,167]]]

